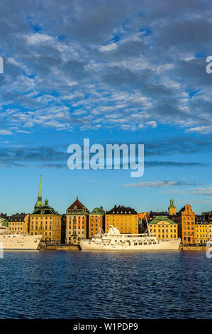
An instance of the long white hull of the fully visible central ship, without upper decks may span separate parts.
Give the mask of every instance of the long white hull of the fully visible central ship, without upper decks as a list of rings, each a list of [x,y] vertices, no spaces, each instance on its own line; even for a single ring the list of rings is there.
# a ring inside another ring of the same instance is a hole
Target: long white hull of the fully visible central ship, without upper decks
[[[94,251],[164,251],[164,250],[178,250],[181,239],[171,239],[159,241],[157,244],[143,244],[143,245],[134,245],[133,242],[131,244],[96,244],[94,242],[90,242],[89,240],[84,240],[80,244],[80,248],[82,250],[94,250]]]

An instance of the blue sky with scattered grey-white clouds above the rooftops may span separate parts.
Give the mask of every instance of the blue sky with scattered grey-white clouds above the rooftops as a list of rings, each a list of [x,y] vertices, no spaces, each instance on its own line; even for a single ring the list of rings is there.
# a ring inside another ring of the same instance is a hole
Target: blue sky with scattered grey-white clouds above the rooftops
[[[212,210],[210,0],[0,3],[0,212]],[[70,170],[70,144],[144,144],[144,174]]]

